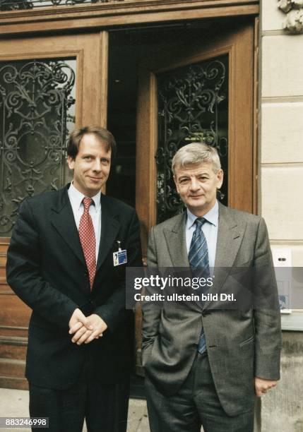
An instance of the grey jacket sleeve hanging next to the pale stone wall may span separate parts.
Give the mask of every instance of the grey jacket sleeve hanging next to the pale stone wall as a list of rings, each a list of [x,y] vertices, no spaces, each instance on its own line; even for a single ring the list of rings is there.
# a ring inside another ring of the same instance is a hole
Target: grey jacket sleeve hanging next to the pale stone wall
[[[280,379],[281,322],[278,287],[266,223],[259,222],[254,254],[255,376]]]

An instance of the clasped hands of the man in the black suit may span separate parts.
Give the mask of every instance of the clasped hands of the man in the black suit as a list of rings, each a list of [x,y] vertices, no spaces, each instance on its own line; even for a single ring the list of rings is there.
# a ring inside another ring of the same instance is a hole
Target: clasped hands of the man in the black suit
[[[88,344],[94,339],[102,337],[107,324],[96,313],[85,316],[80,309],[75,309],[69,320],[69,334],[73,335],[71,342],[81,345]]]

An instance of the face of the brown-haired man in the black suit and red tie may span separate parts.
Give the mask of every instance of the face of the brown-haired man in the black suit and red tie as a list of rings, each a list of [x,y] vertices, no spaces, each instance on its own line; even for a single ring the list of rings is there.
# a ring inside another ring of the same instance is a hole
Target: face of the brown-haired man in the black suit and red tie
[[[95,196],[108,179],[112,150],[107,151],[106,147],[106,143],[89,133],[83,136],[76,158],[68,157],[73,186],[88,198]]]

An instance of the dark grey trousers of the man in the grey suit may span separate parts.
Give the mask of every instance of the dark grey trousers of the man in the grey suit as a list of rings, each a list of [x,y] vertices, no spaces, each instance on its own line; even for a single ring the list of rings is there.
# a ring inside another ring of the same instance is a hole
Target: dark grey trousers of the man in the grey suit
[[[207,354],[198,354],[182,388],[170,397],[145,378],[150,432],[253,432],[254,407],[227,416],[218,399]]]

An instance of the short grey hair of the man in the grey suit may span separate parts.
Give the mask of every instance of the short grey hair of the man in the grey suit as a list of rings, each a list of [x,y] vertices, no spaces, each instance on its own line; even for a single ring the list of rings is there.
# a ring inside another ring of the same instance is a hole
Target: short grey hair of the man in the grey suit
[[[221,169],[220,157],[216,148],[204,143],[184,145],[172,158],[172,172],[176,174],[176,167],[184,168],[201,162],[210,162],[215,173]]]

